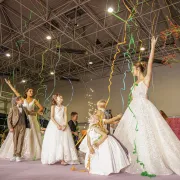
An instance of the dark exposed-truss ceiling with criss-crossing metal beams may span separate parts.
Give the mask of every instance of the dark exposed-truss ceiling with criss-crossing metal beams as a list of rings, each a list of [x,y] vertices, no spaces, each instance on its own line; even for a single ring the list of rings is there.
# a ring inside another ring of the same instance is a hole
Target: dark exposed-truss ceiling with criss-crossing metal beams
[[[114,15],[107,12],[110,6]],[[115,74],[123,73],[124,53],[129,49],[133,61],[148,57],[153,32],[171,28],[168,18],[180,24],[179,0],[0,0],[1,76],[30,84],[52,80],[54,71],[59,78],[105,77],[126,34],[114,67]],[[140,53],[141,43],[146,50]],[[159,38],[156,56],[178,53],[179,47],[174,34],[166,42]]]

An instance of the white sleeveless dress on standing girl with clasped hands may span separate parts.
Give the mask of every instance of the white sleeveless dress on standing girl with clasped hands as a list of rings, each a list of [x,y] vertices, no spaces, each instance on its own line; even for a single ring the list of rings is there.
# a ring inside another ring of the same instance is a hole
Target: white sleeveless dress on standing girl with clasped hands
[[[54,114],[56,122],[65,125],[64,106],[55,106]],[[61,160],[68,164],[79,164],[77,150],[69,126],[67,125],[65,131],[62,131],[50,120],[44,135],[41,162],[42,164],[54,164]]]

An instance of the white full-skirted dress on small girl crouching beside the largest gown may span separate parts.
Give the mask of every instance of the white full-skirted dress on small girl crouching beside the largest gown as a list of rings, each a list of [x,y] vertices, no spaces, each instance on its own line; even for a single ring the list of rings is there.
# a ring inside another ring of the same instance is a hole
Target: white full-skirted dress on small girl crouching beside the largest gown
[[[89,128],[88,135],[92,146],[101,137],[93,126]],[[109,175],[119,173],[120,170],[129,165],[126,153],[112,136],[108,136],[98,148],[94,149],[94,154],[90,154],[88,149],[85,157],[85,167],[88,168],[89,166],[89,173],[91,174]]]

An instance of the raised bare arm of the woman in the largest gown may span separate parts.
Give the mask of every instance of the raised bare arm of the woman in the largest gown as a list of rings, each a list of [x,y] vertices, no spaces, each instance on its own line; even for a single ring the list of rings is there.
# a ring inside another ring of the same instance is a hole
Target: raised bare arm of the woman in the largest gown
[[[151,53],[148,60],[148,66],[147,66],[147,74],[145,76],[144,82],[149,87],[151,77],[152,77],[152,67],[153,67],[153,61],[154,61],[154,52],[155,52],[155,46],[157,42],[157,37],[154,36],[151,39]]]

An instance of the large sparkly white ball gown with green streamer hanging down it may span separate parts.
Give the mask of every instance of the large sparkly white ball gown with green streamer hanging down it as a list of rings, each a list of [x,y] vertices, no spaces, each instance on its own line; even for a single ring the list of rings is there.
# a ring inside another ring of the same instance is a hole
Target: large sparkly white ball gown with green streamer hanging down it
[[[133,100],[114,133],[129,151],[126,172],[180,175],[180,141],[147,99],[147,91],[143,81],[132,89]]]

